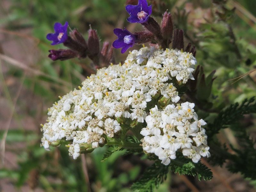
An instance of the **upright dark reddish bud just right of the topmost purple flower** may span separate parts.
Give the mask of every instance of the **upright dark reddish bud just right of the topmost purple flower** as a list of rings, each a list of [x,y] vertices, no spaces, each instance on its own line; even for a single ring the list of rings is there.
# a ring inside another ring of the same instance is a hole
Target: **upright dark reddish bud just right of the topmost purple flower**
[[[172,30],[173,30],[172,15],[171,13],[165,12],[162,23],[161,23],[161,33],[164,40],[167,41],[167,44],[170,44],[172,41]]]

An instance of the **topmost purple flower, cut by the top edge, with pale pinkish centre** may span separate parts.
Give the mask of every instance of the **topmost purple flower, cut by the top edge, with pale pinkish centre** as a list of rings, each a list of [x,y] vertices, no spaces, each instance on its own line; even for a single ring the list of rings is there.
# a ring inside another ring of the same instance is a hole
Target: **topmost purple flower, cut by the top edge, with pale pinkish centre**
[[[130,23],[145,23],[152,13],[152,5],[147,0],[139,0],[138,5],[126,5],[126,11],[131,15],[127,21]]]

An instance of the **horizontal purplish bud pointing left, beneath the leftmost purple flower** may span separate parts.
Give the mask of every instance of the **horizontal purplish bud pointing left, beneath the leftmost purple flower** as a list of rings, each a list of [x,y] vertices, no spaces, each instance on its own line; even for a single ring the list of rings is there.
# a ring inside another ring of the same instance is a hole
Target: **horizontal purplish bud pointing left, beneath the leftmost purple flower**
[[[72,51],[71,49],[59,49],[59,50],[49,50],[50,54],[49,58],[52,60],[68,60],[75,58],[77,53]]]

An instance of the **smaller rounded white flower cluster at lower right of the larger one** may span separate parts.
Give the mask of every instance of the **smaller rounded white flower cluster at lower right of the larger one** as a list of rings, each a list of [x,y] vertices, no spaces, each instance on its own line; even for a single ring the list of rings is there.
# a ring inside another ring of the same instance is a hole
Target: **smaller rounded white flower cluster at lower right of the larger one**
[[[146,117],[147,127],[140,132],[142,147],[147,153],[155,153],[165,165],[176,158],[176,151],[197,163],[201,156],[210,156],[203,119],[198,120],[194,103],[181,103],[176,107],[167,105],[163,110],[157,106]]]

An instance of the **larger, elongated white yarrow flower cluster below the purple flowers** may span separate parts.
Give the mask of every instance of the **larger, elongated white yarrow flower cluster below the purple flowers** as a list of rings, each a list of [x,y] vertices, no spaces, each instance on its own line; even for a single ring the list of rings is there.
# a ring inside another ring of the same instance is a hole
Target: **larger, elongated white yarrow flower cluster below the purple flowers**
[[[148,102],[155,105],[159,98],[178,102],[174,82],[185,84],[194,79],[195,64],[191,53],[179,50],[143,47],[130,52],[123,65],[99,69],[78,90],[60,97],[49,109],[42,145],[48,149],[61,140],[70,140],[69,155],[74,159],[80,155],[82,143],[92,148],[103,145],[106,136],[118,135],[120,119],[143,123]]]

